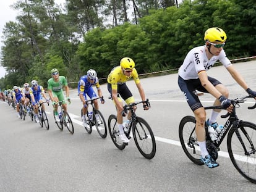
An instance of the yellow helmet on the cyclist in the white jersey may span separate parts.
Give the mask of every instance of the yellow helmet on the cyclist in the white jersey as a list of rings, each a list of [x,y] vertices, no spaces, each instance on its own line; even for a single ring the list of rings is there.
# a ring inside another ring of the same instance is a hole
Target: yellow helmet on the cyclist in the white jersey
[[[205,31],[204,39],[211,43],[224,43],[227,40],[227,35],[221,28],[212,27]]]

